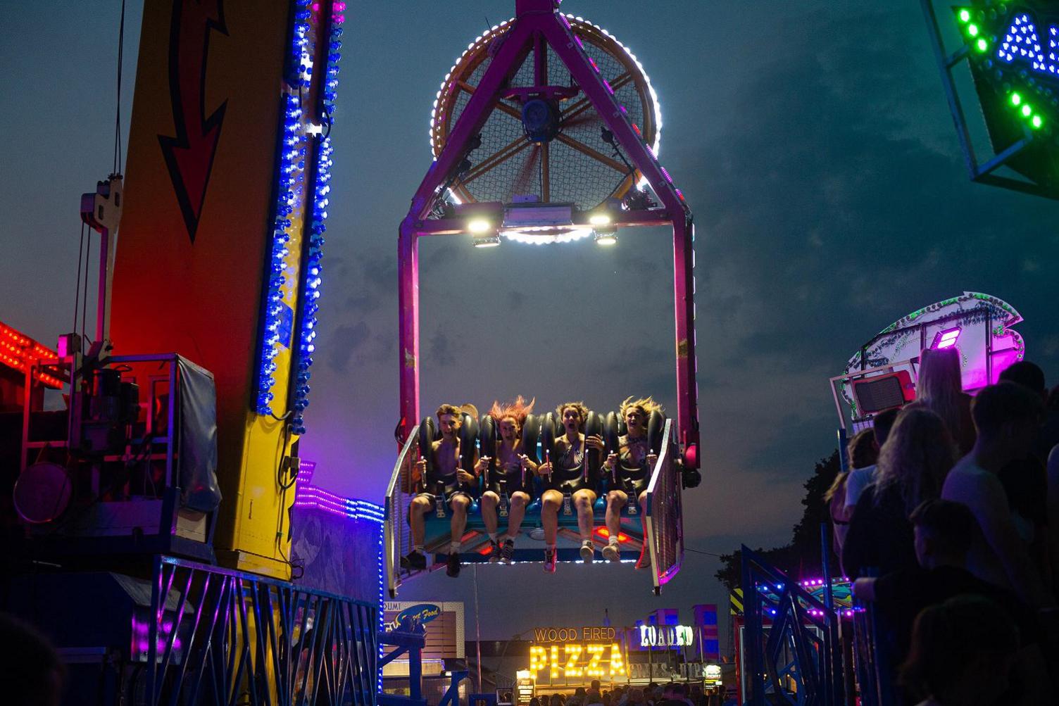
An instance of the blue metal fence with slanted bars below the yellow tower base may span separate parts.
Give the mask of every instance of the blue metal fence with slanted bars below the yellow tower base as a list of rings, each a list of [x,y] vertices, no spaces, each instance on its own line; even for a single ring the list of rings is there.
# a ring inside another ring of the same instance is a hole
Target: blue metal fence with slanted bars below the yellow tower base
[[[145,704],[375,706],[377,605],[173,557],[133,620]]]

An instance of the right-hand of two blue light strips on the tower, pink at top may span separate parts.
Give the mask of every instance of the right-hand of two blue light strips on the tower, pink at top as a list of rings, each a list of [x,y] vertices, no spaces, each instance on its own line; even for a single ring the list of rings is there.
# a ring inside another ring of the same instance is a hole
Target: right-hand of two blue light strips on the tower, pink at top
[[[334,162],[334,149],[330,143],[330,129],[335,124],[335,98],[338,90],[338,62],[342,58],[339,50],[342,48],[342,22],[344,21],[344,2],[331,5],[330,37],[327,46],[327,65],[322,90],[324,107],[324,137],[317,145],[317,175],[312,194],[312,219],[309,227],[308,257],[305,264],[305,287],[302,296],[302,325],[298,332],[298,375],[294,380],[293,409],[291,420],[294,434],[305,433],[304,412],[309,405],[309,377],[312,365],[312,354],[316,350],[313,341],[317,338],[317,311],[320,305],[320,273],[323,257],[324,233],[327,230],[327,204],[330,193],[330,168]]]

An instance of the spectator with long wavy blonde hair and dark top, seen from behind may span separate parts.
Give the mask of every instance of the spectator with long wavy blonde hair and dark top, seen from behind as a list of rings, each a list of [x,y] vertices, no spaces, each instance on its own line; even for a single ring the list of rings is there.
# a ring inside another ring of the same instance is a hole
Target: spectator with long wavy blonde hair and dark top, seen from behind
[[[861,493],[849,520],[842,566],[850,577],[866,567],[884,575],[915,566],[909,517],[923,501],[941,495],[955,463],[952,437],[941,418],[921,405],[904,409],[879,451],[874,484]]]

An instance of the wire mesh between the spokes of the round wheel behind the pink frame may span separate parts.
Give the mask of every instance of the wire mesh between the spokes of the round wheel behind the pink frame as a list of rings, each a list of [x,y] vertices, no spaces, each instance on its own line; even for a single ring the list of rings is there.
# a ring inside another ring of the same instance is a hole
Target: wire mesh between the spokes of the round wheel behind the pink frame
[[[616,52],[618,47],[599,46],[595,30],[573,22],[574,33],[581,38],[585,50],[599,68],[600,75],[614,88],[614,95],[624,105],[629,117],[636,125],[644,125],[644,101],[638,90],[635,78],[639,72],[630,72]],[[614,53],[612,53],[614,52]],[[464,80],[474,87],[491,62],[486,58],[468,75],[454,76],[452,82]],[[548,74],[551,86],[571,86],[573,79],[558,55],[548,48]],[[513,86],[533,86],[534,57],[530,57],[516,72]],[[446,116],[451,130],[470,101],[471,93],[466,88],[453,88],[456,96],[452,109]],[[542,148],[526,139],[520,117],[521,104],[518,101],[501,101],[500,106],[489,115],[482,129],[482,145],[470,155],[471,170],[457,187],[463,196],[475,201],[510,202],[516,194],[542,195]],[[611,158],[613,148],[603,141],[600,128],[605,123],[599,113],[591,107],[584,94],[564,101],[560,106],[564,123],[562,135],[586,147]],[[568,115],[572,115],[568,119]],[[549,150],[549,200],[571,202],[578,209],[590,209],[611,196],[623,183],[627,174],[609,166],[598,159],[564,144],[562,139],[553,140]],[[500,161],[495,166],[483,168],[492,156],[505,149],[521,149],[514,157]],[[620,161],[613,158],[615,161]]]

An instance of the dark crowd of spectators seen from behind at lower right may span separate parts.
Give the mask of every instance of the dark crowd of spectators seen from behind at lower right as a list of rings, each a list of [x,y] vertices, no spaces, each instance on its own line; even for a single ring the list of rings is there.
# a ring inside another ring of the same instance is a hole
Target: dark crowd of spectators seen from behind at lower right
[[[836,550],[902,703],[1059,703],[1059,386],[1020,362],[972,398],[959,366],[923,351],[916,400],[850,439]]]

